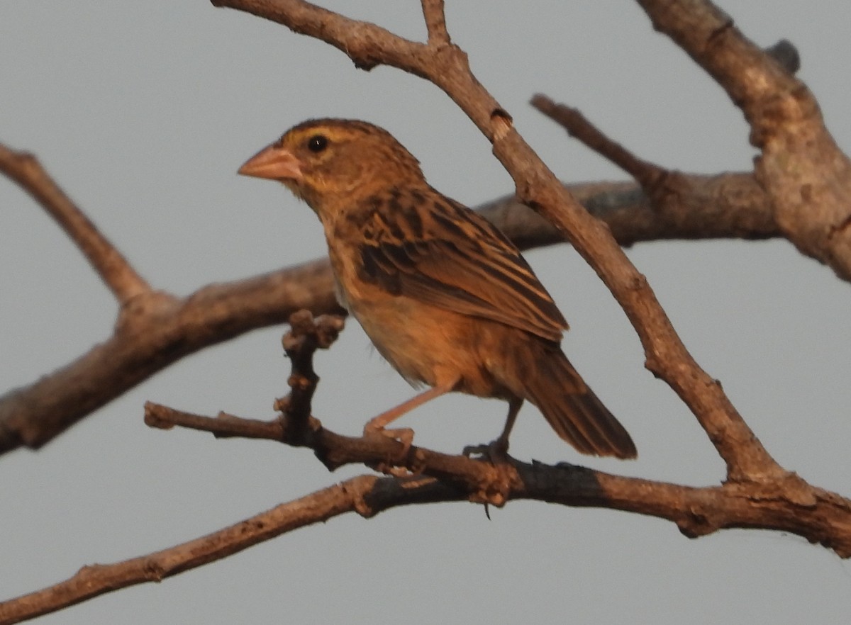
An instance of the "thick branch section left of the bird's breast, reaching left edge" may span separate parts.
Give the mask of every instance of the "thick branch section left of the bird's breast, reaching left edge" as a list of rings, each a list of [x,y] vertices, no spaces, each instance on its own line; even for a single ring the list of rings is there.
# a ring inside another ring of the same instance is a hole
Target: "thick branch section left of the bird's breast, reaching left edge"
[[[0,452],[42,446],[124,391],[198,349],[295,310],[339,311],[328,264],[203,287],[188,298],[151,293],[122,310],[105,343],[34,384],[0,398]]]

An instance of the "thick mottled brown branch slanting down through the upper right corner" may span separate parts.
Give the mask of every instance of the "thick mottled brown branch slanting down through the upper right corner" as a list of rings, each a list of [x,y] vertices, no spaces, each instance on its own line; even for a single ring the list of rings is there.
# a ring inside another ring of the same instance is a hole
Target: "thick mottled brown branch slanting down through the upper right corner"
[[[825,128],[818,102],[785,66],[707,0],[638,0],[727,92],[762,150],[757,180],[777,223],[802,252],[851,280],[851,162]]]

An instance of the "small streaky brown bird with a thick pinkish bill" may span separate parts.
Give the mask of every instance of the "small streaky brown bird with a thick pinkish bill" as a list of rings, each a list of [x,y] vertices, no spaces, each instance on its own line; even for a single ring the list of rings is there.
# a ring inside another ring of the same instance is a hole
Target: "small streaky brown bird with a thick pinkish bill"
[[[371,419],[365,433],[401,431],[386,426],[457,391],[508,402],[505,427],[491,443],[497,456],[507,453],[529,401],[577,451],[637,457],[626,429],[564,355],[568,323],[517,247],[432,188],[420,162],[385,129],[311,119],[238,173],[277,180],[311,207],[340,304],[403,378],[429,387]]]

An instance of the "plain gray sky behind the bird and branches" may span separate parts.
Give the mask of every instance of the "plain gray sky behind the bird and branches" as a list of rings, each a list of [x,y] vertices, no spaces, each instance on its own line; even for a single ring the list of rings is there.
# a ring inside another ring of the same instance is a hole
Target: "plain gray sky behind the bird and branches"
[[[407,37],[420,4],[328,3]],[[740,112],[637,3],[447,3],[477,77],[562,179],[624,174],[528,106],[575,105],[663,166],[751,167]],[[723,3],[760,45],[789,38],[837,143],[851,147],[851,4]],[[524,5],[528,7],[529,4]],[[277,185],[236,175],[311,116],[363,118],[471,205],[511,191],[488,143],[449,99],[389,68],[209,3],[0,3],[0,140],[35,152],[143,276],[173,293],[324,253],[315,216]],[[28,384],[104,340],[116,308],[43,211],[0,179],[0,386]],[[787,469],[851,494],[847,368],[851,287],[789,243],[651,243],[629,255],[688,348]],[[572,330],[564,348],[630,430],[639,460],[579,457],[526,407],[524,460],[567,460],[651,479],[716,484],[721,460],[694,418],[643,368],[637,338],[568,247],[528,254]],[[0,458],[0,599],[81,565],[186,541],[363,473],[328,474],[310,452],[142,423],[142,404],[269,418],[285,392],[283,327],[172,366],[40,452]],[[411,389],[351,321],[319,356],[314,411],[356,434]],[[499,434],[505,405],[445,397],[403,421],[457,452]],[[690,541],[661,520],[512,502],[488,521],[464,503],[349,515],[228,560],[43,617],[68,623],[847,622],[851,566],[798,537],[725,531]]]

